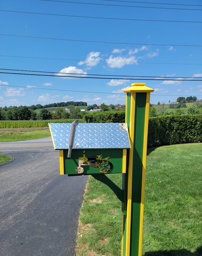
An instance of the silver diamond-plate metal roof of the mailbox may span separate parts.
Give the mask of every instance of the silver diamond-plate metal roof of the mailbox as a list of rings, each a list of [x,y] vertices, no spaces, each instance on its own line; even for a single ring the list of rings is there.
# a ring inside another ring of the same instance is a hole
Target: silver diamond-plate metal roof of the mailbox
[[[71,124],[49,124],[55,149],[68,149]],[[78,124],[73,149],[130,148],[126,123]]]

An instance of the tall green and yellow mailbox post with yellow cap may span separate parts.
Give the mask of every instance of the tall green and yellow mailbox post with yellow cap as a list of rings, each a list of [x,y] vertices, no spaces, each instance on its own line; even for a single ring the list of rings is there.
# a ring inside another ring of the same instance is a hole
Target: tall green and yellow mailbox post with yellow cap
[[[127,172],[123,174],[122,256],[142,255],[144,188],[150,93],[145,83],[134,83],[126,92],[126,123],[131,149],[127,152]]]

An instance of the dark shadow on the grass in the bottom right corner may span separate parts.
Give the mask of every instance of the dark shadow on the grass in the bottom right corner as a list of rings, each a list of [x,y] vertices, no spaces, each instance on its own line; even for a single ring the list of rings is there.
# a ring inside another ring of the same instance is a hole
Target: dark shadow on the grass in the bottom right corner
[[[202,246],[200,246],[196,252],[189,252],[188,250],[171,250],[171,251],[157,251],[157,252],[146,252],[144,256],[201,256]]]

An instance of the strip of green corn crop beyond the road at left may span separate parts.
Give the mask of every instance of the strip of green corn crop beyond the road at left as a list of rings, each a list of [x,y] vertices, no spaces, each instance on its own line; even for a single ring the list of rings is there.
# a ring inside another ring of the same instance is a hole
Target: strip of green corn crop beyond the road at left
[[[65,120],[37,120],[37,121],[0,121],[0,128],[28,128],[28,127],[49,127],[49,123],[72,123],[74,119]],[[79,119],[79,123],[84,123]]]

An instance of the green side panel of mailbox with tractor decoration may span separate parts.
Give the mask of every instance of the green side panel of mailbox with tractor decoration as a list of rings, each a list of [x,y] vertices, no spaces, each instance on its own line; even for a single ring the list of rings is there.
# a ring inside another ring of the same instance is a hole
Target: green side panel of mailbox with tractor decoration
[[[122,173],[123,149],[72,149],[71,158],[67,157],[68,150],[63,150],[64,174],[79,175],[76,168],[79,166],[79,158],[84,159],[84,151],[85,157],[88,158],[85,163],[90,165],[81,164],[81,174],[101,173],[98,167],[100,170],[112,169],[110,173]]]

